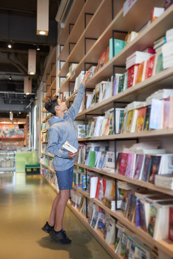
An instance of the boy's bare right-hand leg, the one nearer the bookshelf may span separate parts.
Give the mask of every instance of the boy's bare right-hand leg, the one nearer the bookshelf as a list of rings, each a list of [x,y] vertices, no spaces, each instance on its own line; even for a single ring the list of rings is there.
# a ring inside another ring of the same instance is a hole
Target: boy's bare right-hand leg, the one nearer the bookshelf
[[[56,219],[54,224],[55,231],[61,231],[63,228],[63,217],[66,209],[66,204],[70,197],[70,190],[60,190],[59,199],[56,206]]]

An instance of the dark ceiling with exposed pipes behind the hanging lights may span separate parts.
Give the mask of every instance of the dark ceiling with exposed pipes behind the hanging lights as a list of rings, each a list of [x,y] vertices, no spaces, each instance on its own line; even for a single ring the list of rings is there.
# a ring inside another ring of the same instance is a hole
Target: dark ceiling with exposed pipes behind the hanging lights
[[[37,0],[5,0],[0,3],[0,101],[3,99],[9,106],[15,103],[27,105],[35,98],[50,46],[56,46],[57,43],[55,16],[60,2],[49,0],[48,36],[36,34]],[[11,49],[8,48],[9,43],[12,44]],[[28,49],[37,49],[37,45],[40,50],[37,50],[36,74],[31,76],[32,95],[24,96],[23,80],[27,75]],[[5,113],[1,105],[0,117],[4,118]]]

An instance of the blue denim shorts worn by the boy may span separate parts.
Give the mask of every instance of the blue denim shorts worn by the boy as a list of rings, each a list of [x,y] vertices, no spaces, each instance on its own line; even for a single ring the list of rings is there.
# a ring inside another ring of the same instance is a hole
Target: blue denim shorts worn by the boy
[[[57,183],[60,190],[72,189],[73,185],[73,166],[64,171],[56,171]]]

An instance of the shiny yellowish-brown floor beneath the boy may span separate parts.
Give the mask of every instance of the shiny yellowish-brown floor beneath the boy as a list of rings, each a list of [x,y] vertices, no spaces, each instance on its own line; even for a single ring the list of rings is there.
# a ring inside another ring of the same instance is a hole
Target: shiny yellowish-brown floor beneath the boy
[[[41,230],[55,195],[41,176],[0,174],[0,258],[110,259],[67,207],[64,228],[71,245],[62,246]]]

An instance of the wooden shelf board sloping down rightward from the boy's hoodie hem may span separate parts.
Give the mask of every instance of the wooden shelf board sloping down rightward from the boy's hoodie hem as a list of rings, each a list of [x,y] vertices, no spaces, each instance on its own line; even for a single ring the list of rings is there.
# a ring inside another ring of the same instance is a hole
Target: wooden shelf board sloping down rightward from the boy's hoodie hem
[[[158,186],[156,186],[154,184],[151,184],[149,182],[145,182],[145,181],[129,178],[129,177],[122,176],[122,175],[119,175],[119,174],[116,174],[116,173],[107,173],[107,172],[104,172],[104,171],[100,170],[99,168],[90,167],[90,166],[86,166],[86,165],[83,165],[83,164],[75,163],[75,165],[83,167],[85,169],[89,169],[89,170],[98,172],[99,174],[103,174],[103,175],[109,176],[111,178],[116,178],[116,179],[119,179],[119,180],[122,180],[122,181],[125,181],[125,182],[129,182],[129,183],[132,183],[132,184],[139,185],[141,187],[145,187],[145,188],[151,189],[151,190],[155,190],[155,191],[158,191],[158,192],[162,192],[162,193],[167,193],[169,195],[173,195],[173,191],[172,190],[158,187]]]

